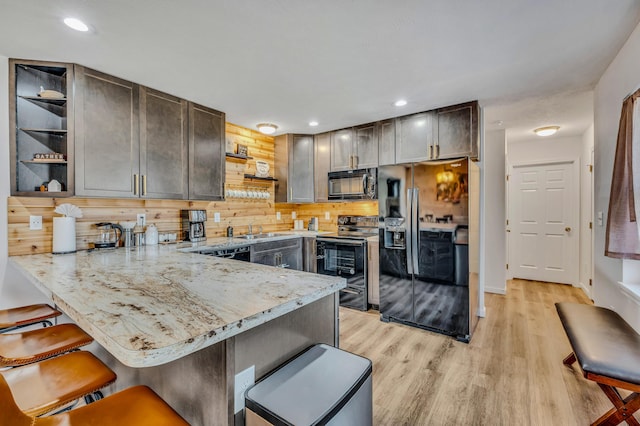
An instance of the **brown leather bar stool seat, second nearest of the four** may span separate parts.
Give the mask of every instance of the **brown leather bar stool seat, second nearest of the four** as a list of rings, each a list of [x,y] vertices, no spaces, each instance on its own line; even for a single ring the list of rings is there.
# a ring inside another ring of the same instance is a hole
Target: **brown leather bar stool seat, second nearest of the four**
[[[25,414],[40,416],[115,382],[116,374],[86,351],[1,371]],[[101,397],[102,395],[100,395]]]

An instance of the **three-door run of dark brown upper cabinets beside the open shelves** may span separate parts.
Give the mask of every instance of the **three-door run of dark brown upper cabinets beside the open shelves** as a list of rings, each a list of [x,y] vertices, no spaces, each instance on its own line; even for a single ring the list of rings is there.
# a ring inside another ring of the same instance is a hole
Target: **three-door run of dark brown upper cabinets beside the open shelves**
[[[76,66],[76,194],[221,200],[225,115]]]

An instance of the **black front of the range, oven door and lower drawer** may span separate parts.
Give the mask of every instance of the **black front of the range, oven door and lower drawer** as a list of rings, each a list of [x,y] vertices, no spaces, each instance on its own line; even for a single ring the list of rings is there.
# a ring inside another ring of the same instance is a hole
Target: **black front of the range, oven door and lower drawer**
[[[340,290],[340,305],[366,311],[367,242],[320,237],[317,239],[316,253],[319,274],[347,280],[347,287]]]

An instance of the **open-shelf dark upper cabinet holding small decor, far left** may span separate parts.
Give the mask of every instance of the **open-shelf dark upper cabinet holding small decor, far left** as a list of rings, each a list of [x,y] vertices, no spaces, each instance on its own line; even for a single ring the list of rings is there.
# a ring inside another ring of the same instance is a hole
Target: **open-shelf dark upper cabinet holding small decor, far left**
[[[9,91],[11,195],[73,195],[73,66],[11,59]]]

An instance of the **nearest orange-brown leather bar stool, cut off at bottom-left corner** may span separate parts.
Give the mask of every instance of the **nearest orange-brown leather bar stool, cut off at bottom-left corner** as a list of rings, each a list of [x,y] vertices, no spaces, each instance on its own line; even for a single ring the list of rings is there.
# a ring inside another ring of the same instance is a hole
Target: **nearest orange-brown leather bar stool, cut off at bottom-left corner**
[[[182,426],[189,425],[146,386],[115,393],[92,404],[60,414],[32,417],[16,405],[4,376],[0,375],[0,424],[11,426]]]

